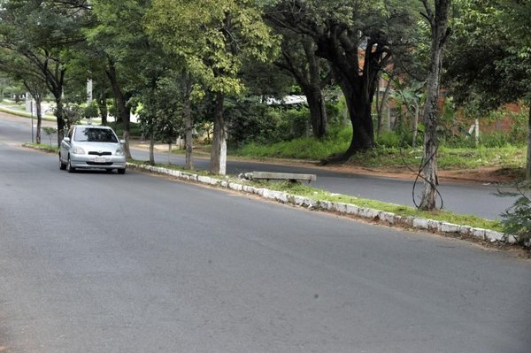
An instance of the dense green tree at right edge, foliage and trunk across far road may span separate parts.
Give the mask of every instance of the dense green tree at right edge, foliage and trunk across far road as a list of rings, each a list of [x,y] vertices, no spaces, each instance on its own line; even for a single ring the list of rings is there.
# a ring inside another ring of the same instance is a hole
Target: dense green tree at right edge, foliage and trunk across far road
[[[522,98],[530,104],[531,2],[455,0],[455,4],[455,38],[449,48],[445,77],[456,102],[478,106],[482,113]],[[527,125],[529,180],[531,109]]]

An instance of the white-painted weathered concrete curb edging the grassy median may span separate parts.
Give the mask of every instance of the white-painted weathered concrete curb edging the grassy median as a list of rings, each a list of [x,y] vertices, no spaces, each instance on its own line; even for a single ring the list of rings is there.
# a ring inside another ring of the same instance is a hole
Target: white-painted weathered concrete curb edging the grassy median
[[[201,176],[189,172],[175,171],[163,167],[152,165],[137,165],[134,163],[127,163],[127,166],[135,169],[149,171],[151,173],[159,173],[169,175],[182,180],[192,180],[212,186],[221,188],[230,188],[235,191],[242,191],[245,193],[264,197],[269,200],[280,203],[290,203],[296,206],[305,207],[308,209],[333,211],[339,214],[350,215],[362,219],[371,219],[380,221],[388,225],[407,226],[420,230],[427,230],[428,232],[444,233],[444,234],[459,234],[464,236],[472,236],[488,242],[517,242],[513,235],[505,235],[489,229],[474,228],[472,226],[459,226],[447,222],[442,222],[433,219],[421,219],[415,217],[398,216],[395,213],[374,210],[366,207],[359,207],[350,203],[335,203],[323,200],[314,200],[304,196],[291,195],[282,191],[274,191],[267,188],[255,188],[249,185],[243,185],[229,180],[219,180],[208,176]]]

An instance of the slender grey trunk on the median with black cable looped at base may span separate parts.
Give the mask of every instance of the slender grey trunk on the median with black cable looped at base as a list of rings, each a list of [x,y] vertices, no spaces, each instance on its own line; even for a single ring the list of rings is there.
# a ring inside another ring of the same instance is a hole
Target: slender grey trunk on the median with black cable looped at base
[[[419,209],[435,210],[437,176],[437,125],[439,121],[439,83],[443,66],[443,46],[447,37],[446,23],[450,9],[450,0],[435,2],[435,14],[431,11],[427,0],[422,0],[427,11],[427,19],[431,26],[430,69],[427,76],[427,100],[424,106],[424,188]]]

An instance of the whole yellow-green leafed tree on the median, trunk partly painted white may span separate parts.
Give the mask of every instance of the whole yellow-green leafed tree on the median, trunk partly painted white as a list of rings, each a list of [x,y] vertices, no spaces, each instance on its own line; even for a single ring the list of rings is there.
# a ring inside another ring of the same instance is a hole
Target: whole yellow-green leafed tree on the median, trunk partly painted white
[[[245,58],[267,61],[276,40],[254,2],[245,0],[154,0],[146,26],[168,52],[181,57],[189,73],[215,96],[211,172],[226,173],[227,129],[223,117],[227,95],[239,95],[238,73]]]

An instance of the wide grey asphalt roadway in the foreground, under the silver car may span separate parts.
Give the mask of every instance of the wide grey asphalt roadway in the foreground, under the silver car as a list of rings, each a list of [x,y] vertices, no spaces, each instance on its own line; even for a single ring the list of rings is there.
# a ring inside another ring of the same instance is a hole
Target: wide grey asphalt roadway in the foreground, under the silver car
[[[11,138],[6,352],[531,351],[528,260],[149,174],[65,173]]]

